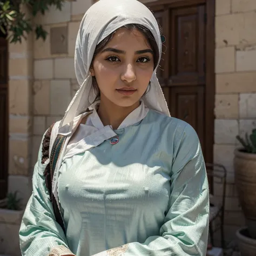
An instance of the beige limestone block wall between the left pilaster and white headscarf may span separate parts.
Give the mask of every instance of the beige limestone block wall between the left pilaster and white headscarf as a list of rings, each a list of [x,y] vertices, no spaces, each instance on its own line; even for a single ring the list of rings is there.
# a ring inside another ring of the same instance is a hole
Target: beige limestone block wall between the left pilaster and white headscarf
[[[92,0],[65,2],[62,11],[50,9],[35,22],[48,31],[46,41],[34,39],[32,86],[32,160],[37,160],[42,135],[48,127],[60,120],[72,97],[78,90],[74,68],[77,32],[84,13]]]

